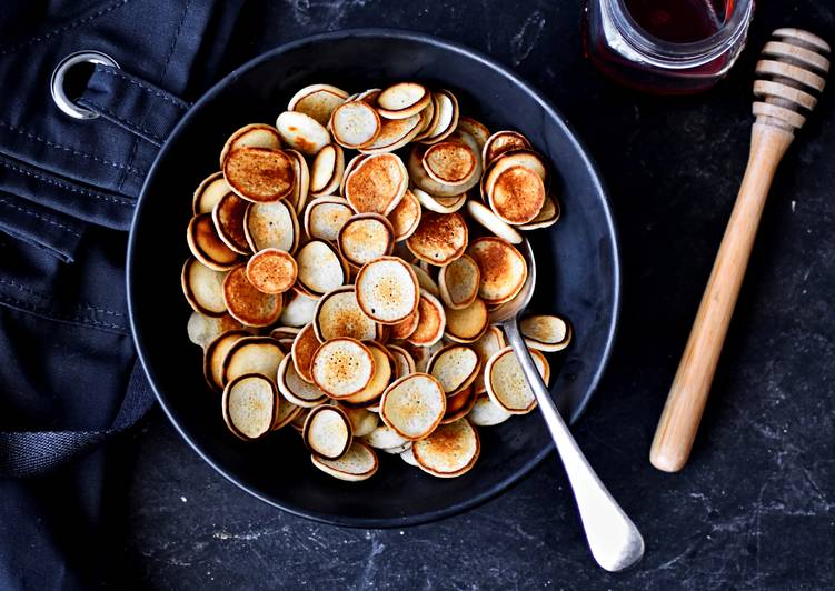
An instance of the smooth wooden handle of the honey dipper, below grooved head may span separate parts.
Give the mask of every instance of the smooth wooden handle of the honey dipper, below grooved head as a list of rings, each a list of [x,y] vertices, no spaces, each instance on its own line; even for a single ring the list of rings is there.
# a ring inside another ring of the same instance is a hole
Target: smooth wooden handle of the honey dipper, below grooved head
[[[658,470],[677,472],[690,454],[765,198],[793,139],[786,129],[754,123],[745,178],[653,440],[649,461]]]

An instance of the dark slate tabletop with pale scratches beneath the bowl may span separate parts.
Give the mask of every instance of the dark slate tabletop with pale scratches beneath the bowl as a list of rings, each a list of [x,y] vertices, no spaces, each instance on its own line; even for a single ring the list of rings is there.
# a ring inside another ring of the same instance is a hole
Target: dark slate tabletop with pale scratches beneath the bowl
[[[411,28],[513,66],[563,110],[610,188],[625,271],[614,359],[575,433],[643,530],[643,563],[620,574],[595,568],[556,460],[440,523],[344,530],[248,497],[155,411],[135,440],[112,450],[108,514],[125,540],[113,550],[127,551],[127,563],[115,563],[126,581],[161,589],[835,584],[832,93],[777,176],[689,465],[670,475],[647,460],[745,168],[756,51],[782,26],[835,40],[834,7],[762,2],[730,78],[707,94],[673,100],[636,96],[598,76],[580,54],[575,4],[251,2],[229,64],[315,31]]]

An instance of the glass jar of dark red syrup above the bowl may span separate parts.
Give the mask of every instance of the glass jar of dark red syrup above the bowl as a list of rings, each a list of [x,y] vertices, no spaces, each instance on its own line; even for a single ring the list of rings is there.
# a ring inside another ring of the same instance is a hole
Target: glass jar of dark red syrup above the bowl
[[[753,13],[754,0],[586,0],[584,49],[623,84],[689,94],[730,70]]]

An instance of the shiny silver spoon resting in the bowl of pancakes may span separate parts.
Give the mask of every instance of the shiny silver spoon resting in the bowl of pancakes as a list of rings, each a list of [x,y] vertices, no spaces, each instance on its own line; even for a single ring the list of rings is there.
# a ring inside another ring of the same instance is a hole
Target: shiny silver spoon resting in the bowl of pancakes
[[[527,239],[524,239],[519,247],[528,264],[528,278],[516,298],[490,313],[490,322],[499,323],[505,329],[507,340],[516,351],[521,370],[536,395],[539,410],[545,417],[545,423],[568,474],[592,555],[607,571],[620,571],[632,567],[644,555],[644,538],[583,455],[543,383],[519,333],[517,319],[525,312],[536,287],[534,251]]]

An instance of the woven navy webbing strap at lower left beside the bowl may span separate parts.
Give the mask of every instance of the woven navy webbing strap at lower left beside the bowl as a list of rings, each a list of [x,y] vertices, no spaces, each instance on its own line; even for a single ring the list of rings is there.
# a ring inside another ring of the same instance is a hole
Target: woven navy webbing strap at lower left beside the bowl
[[[153,400],[153,391],[137,361],[122,404],[108,429],[0,432],[0,477],[34,477],[74,460],[136,424],[151,408]]]

